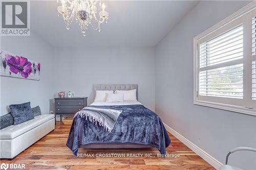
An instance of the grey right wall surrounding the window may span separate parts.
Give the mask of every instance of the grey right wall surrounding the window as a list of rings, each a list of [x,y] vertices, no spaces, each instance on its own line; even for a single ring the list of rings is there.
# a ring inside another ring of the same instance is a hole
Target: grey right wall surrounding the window
[[[193,38],[249,2],[201,1],[156,46],[156,113],[222,163],[229,149],[256,148],[256,117],[193,104]],[[255,153],[229,163],[256,169]]]

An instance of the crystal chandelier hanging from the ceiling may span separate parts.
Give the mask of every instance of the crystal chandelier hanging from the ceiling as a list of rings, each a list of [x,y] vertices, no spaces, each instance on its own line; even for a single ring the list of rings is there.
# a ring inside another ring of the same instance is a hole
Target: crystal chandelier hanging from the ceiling
[[[57,0],[58,3],[58,0]],[[58,13],[62,15],[63,20],[67,25],[67,30],[70,29],[70,24],[76,19],[79,22],[81,33],[86,36],[86,30],[89,25],[92,25],[94,30],[100,32],[100,25],[104,21],[107,23],[109,13],[105,11],[105,5],[97,0],[60,0],[61,6],[58,6]],[[97,18],[97,6],[102,8]],[[97,26],[94,27],[92,22],[96,21]]]

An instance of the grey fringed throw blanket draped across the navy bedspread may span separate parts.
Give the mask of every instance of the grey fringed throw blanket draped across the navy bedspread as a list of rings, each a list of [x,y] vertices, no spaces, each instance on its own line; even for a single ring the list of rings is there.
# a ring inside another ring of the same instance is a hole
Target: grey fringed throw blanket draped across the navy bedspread
[[[78,111],[75,116],[78,114],[81,117],[86,117],[86,120],[89,118],[90,122],[95,123],[95,125],[98,123],[99,126],[102,126],[105,130],[111,132],[121,113],[122,110],[85,107]]]

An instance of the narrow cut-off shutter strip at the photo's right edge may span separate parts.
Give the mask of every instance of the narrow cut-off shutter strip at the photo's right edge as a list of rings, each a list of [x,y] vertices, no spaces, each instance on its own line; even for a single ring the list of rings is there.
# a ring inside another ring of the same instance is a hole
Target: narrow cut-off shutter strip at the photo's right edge
[[[256,17],[252,18],[251,23],[251,52],[252,52],[252,65],[251,65],[251,99],[256,100]]]

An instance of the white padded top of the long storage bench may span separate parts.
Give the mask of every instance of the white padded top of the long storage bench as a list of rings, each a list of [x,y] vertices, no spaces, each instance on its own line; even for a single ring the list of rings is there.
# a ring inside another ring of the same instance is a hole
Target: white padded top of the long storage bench
[[[13,139],[29,130],[46,123],[48,120],[54,118],[54,114],[42,114],[35,116],[34,119],[28,120],[19,125],[11,125],[5,129],[0,130],[0,139]]]

